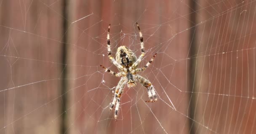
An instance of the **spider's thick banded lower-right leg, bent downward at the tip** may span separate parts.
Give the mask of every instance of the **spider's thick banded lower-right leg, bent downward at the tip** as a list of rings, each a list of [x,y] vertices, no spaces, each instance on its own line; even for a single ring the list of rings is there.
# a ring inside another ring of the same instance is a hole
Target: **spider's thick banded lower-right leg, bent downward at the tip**
[[[147,93],[149,95],[150,100],[146,102],[156,102],[157,101],[157,94],[155,91],[154,86],[151,84],[149,80],[140,75],[133,75],[144,87],[147,88]]]

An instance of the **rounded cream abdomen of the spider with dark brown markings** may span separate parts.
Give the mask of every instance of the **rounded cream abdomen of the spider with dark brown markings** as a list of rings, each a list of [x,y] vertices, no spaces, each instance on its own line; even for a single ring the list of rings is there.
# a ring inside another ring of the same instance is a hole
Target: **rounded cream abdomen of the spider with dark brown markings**
[[[121,64],[123,67],[131,67],[131,65],[136,62],[137,57],[131,51],[131,49],[128,49],[126,46],[119,46],[117,48],[117,53],[116,53],[116,61],[117,63]]]

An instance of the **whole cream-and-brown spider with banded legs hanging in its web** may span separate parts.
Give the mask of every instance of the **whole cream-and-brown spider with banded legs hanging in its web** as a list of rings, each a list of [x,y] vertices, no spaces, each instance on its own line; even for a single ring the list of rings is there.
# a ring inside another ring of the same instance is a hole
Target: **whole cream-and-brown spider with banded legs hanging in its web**
[[[115,73],[112,70],[109,70],[108,68],[100,65],[105,72],[109,72],[112,75],[115,75],[116,77],[121,77],[120,81],[117,84],[117,87],[115,88],[115,92],[112,102],[109,104],[109,110],[111,111],[113,107],[115,106],[115,119],[117,119],[119,107],[120,107],[120,98],[121,94],[123,93],[123,89],[125,88],[125,84],[127,84],[128,88],[136,86],[136,81],[140,82],[144,87],[147,88],[147,93],[150,98],[149,101],[146,102],[155,102],[157,101],[157,94],[155,91],[155,88],[153,87],[152,83],[147,80],[144,77],[141,77],[140,75],[137,75],[136,72],[141,72],[146,70],[146,68],[153,62],[155,59],[156,54],[152,57],[152,59],[147,62],[147,64],[142,68],[137,68],[138,64],[141,62],[142,58],[145,55],[144,51],[144,42],[141,30],[139,28],[139,24],[137,24],[137,27],[139,29],[139,36],[141,40],[141,55],[137,59],[134,52],[132,52],[128,47],[126,46],[119,46],[117,48],[116,58],[114,59],[111,55],[111,49],[110,49],[110,40],[109,40],[109,31],[110,31],[110,24],[108,27],[107,32],[107,50],[108,50],[108,57],[110,61],[118,68],[120,72]]]

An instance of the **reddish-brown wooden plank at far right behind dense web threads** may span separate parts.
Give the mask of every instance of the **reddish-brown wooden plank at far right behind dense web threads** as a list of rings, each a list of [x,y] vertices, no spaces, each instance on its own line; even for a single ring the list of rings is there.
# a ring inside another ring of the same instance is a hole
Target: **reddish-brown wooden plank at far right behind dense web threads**
[[[198,94],[197,120],[221,134],[254,133],[255,2],[200,0],[198,4],[199,21],[208,20],[198,26],[204,44],[198,56],[203,56],[198,58],[202,70],[198,92],[209,94]],[[197,133],[210,131],[199,127]]]

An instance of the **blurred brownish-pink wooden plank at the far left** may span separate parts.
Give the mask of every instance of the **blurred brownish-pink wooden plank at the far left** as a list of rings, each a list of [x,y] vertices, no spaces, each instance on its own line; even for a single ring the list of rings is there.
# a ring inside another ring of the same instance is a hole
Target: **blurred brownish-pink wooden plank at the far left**
[[[60,3],[48,2],[1,1],[0,133],[59,131]]]

